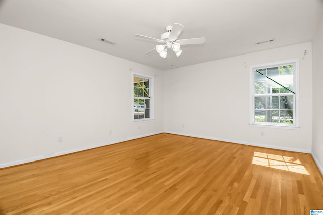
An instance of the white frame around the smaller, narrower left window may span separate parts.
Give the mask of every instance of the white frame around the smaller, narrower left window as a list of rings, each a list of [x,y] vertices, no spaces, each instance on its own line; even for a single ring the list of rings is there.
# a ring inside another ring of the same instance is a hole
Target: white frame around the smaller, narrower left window
[[[143,119],[134,119],[134,114],[133,114],[133,100],[135,97],[133,96],[133,80],[134,77],[139,77],[139,78],[146,78],[149,79],[149,96],[150,96],[150,101],[149,101],[149,118],[143,118]],[[149,75],[142,75],[139,73],[134,73],[131,72],[131,121],[132,122],[143,122],[143,121],[151,121],[154,120],[154,102],[153,102],[153,97],[154,97],[154,77],[149,76]]]

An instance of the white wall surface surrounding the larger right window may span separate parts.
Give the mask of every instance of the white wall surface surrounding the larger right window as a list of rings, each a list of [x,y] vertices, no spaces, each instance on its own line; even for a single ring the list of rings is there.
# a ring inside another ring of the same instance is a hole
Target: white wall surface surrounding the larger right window
[[[175,134],[310,152],[311,54],[308,42],[164,71],[164,129]],[[300,129],[250,126],[249,66],[296,58],[300,66]]]

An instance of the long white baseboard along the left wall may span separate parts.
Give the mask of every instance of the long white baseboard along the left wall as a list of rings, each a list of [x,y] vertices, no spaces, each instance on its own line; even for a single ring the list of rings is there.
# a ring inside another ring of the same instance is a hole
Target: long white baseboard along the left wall
[[[160,134],[160,133],[164,133],[164,131],[153,132],[153,133],[150,133],[150,134],[138,135],[138,136],[134,136],[134,137],[128,137],[128,138],[120,139],[120,140],[117,140],[117,141],[112,141],[112,142],[109,142],[109,143],[101,143],[101,144],[97,144],[97,145],[90,145],[90,146],[86,146],[86,147],[82,147],[82,148],[76,148],[76,149],[72,149],[72,150],[68,150],[68,151],[60,151],[60,152],[57,152],[57,153],[45,154],[45,155],[40,155],[40,156],[31,157],[31,158],[27,158],[27,159],[16,160],[14,162],[0,164],[0,168],[11,167],[11,166],[16,166],[16,165],[20,165],[20,164],[26,164],[26,163],[30,163],[30,162],[35,162],[37,160],[47,159],[47,158],[51,158],[51,157],[57,157],[57,156],[65,155],[65,154],[71,154],[71,153],[78,152],[78,151],[84,151],[84,150],[88,150],[88,149],[92,149],[92,148],[98,148],[98,147],[102,147],[102,146],[106,146],[106,145],[125,142],[125,141],[128,141],[128,140],[134,140],[134,139],[138,139],[138,138],[142,138],[142,137],[148,137],[148,136],[152,136],[152,135]]]

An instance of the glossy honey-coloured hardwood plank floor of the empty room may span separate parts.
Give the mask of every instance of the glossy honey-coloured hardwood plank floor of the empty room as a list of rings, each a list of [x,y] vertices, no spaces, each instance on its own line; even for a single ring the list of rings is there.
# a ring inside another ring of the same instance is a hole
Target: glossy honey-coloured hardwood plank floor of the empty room
[[[310,214],[310,154],[158,134],[0,169],[0,214]]]

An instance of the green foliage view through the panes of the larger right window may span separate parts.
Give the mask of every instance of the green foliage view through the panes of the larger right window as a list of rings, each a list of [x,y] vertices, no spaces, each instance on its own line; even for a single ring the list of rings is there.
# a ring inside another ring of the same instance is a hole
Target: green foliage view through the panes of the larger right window
[[[257,70],[263,75],[254,70],[254,122],[293,125],[295,64]]]

